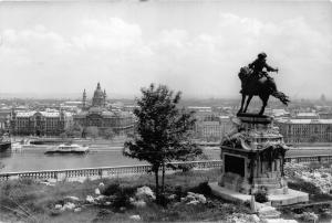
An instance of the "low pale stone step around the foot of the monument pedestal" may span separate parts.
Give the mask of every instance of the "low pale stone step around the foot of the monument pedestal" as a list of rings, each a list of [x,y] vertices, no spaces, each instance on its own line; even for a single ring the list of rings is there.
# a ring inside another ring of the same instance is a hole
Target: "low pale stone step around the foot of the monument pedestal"
[[[237,201],[237,202],[250,202],[251,195],[243,194],[225,187],[220,187],[218,182],[210,182],[209,187],[211,188],[212,194],[222,198],[228,201]],[[292,189],[288,189],[287,194],[270,194],[268,195],[269,201],[271,201],[272,206],[283,206],[295,203],[307,203],[309,201],[309,194],[295,191]],[[259,205],[260,203],[258,203]]]

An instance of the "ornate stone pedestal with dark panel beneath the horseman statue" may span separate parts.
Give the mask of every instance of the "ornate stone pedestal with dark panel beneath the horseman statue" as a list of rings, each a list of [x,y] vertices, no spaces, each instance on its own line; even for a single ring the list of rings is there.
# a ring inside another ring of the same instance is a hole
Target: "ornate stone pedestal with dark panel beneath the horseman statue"
[[[221,142],[224,164],[218,185],[248,195],[258,190],[287,195],[283,164],[288,147],[273,118],[243,114],[234,117],[232,123],[234,129]]]

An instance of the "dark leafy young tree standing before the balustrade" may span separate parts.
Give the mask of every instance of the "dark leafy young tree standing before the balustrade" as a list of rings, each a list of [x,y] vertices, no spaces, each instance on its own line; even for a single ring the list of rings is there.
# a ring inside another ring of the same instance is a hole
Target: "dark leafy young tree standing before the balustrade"
[[[178,160],[193,160],[203,153],[190,140],[195,118],[193,113],[177,107],[180,93],[174,93],[165,85],[142,88],[138,107],[134,109],[137,117],[137,134],[124,145],[124,156],[145,160],[152,164],[155,174],[156,198],[159,195],[159,170],[162,170],[162,193],[165,185],[165,166]],[[174,167],[179,168],[179,167]]]

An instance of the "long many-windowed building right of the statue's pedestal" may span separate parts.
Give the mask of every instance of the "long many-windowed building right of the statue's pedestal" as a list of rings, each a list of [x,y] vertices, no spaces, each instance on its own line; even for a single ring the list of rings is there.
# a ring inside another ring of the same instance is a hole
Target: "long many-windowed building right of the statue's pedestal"
[[[287,144],[332,142],[332,119],[276,119]]]

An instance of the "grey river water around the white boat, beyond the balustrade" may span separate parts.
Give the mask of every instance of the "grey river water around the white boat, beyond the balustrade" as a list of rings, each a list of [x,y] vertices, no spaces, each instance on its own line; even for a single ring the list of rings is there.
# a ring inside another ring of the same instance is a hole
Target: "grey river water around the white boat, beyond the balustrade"
[[[44,155],[48,147],[25,148],[19,151],[0,152],[0,172],[77,169],[145,164],[122,155],[121,147],[92,147],[86,155]],[[204,149],[207,159],[219,159],[220,149]]]

